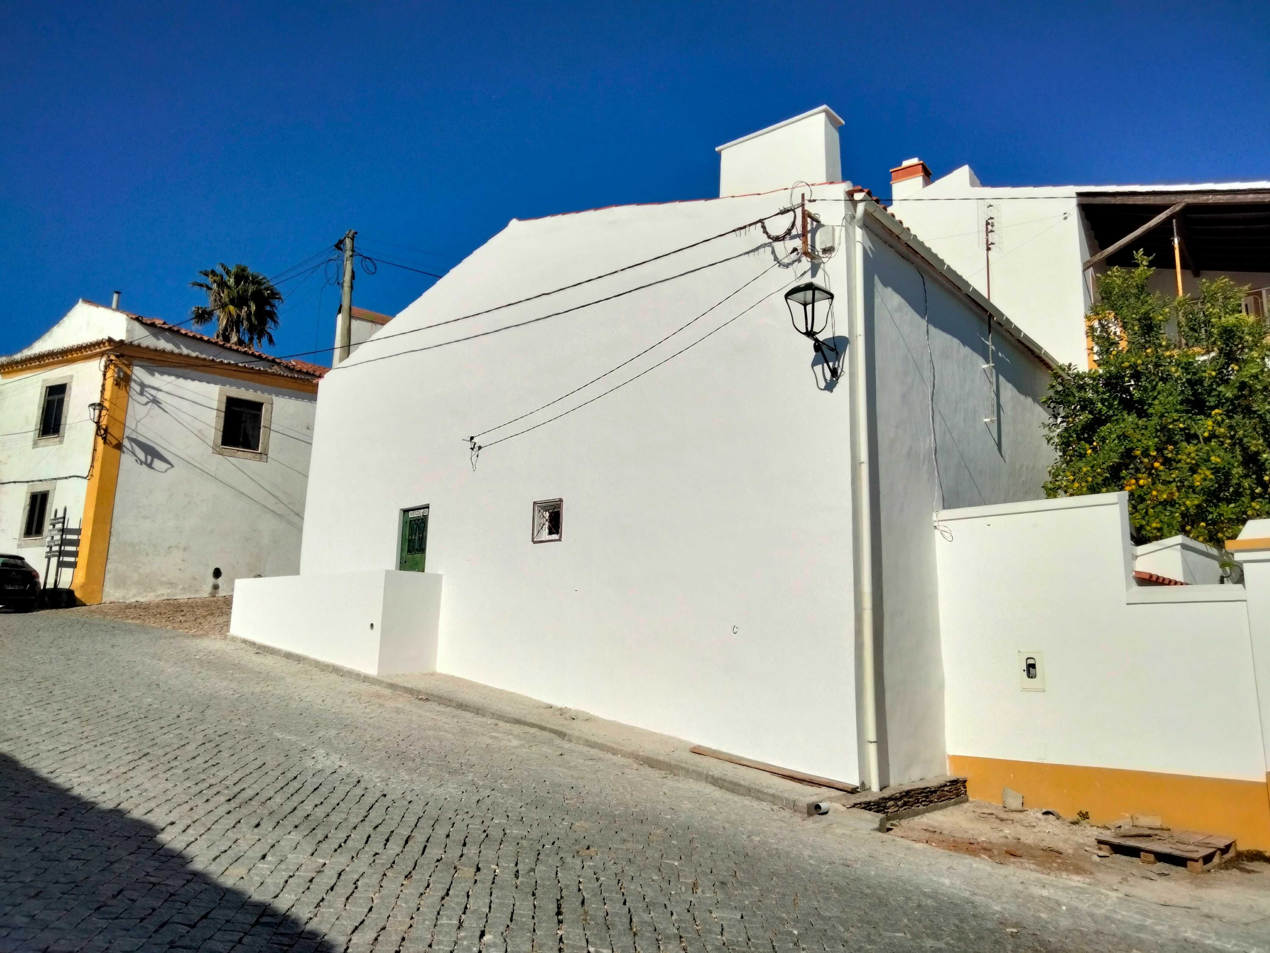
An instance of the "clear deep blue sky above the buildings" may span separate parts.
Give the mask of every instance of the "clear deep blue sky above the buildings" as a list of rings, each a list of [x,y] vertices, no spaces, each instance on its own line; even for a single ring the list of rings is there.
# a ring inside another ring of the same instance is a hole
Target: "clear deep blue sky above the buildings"
[[[712,196],[716,145],[822,103],[848,121],[843,175],[883,196],[913,155],[988,184],[1270,179],[1265,3],[8,0],[4,17],[0,353],[113,288],[184,320],[201,268],[277,274],[349,227],[443,272],[513,217]],[[396,313],[429,282],[381,267],[357,304]],[[320,272],[282,290],[274,352],[329,347],[337,291]]]

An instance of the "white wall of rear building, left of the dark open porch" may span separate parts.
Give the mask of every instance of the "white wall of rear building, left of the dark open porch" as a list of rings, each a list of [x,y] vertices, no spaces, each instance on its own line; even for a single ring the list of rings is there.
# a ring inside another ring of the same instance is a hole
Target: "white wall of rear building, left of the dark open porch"
[[[982,187],[963,166],[890,208],[984,295],[983,221],[992,215],[992,302],[1059,362],[1086,366],[1082,264],[1088,254],[1074,187]]]

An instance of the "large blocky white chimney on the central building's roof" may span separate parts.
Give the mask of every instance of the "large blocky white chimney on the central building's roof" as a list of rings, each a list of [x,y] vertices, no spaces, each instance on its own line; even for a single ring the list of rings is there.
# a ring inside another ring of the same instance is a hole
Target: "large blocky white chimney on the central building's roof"
[[[841,182],[841,125],[838,114],[822,105],[719,146],[719,196],[772,192],[795,182]]]

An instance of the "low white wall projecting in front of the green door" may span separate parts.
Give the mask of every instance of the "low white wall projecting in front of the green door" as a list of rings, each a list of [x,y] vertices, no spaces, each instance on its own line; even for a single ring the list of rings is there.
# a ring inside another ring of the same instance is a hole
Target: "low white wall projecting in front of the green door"
[[[372,569],[239,579],[230,633],[368,675],[437,671],[441,577]]]

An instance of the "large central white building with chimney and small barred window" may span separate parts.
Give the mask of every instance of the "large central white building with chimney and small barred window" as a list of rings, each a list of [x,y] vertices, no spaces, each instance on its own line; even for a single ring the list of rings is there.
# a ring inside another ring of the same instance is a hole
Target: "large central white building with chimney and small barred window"
[[[231,630],[846,783],[944,774],[932,513],[1040,494],[1054,358],[841,180],[841,125],[721,146],[719,198],[513,220],[361,343],[300,574],[240,581]]]

